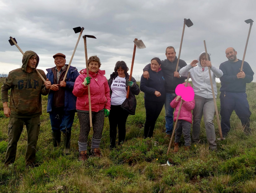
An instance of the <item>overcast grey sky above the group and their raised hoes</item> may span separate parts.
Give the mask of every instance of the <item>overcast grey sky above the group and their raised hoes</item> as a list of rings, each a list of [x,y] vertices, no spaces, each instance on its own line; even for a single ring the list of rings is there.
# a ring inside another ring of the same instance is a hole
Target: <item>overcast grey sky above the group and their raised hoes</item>
[[[10,36],[24,52],[35,51],[40,57],[38,68],[45,71],[55,66],[52,56],[58,52],[69,63],[79,35],[72,28],[81,26],[83,35],[97,38],[87,39],[88,57],[100,58],[107,78],[119,60],[131,67],[133,40],[141,39],[147,48],[136,50],[133,75],[138,77],[153,57],[166,59],[167,46],[173,46],[178,57],[184,18],[194,25],[185,28],[180,59],[186,63],[197,59],[205,40],[212,65],[219,67],[227,61],[228,47],[243,59],[250,27],[244,20],[256,21],[255,7],[255,0],[0,0],[0,73],[8,74],[21,64],[22,54],[10,46]],[[256,24],[245,56],[256,73],[255,50]],[[85,68],[82,37],[71,65],[79,71]]]

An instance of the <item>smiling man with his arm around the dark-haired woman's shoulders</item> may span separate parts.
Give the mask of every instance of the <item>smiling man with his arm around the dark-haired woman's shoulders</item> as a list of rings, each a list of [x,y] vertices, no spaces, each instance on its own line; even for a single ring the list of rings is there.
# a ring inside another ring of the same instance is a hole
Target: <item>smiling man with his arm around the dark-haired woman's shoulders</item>
[[[165,137],[171,137],[172,128],[173,128],[173,110],[174,109],[171,107],[170,103],[176,97],[176,94],[175,94],[176,86],[184,83],[185,79],[187,79],[187,77],[181,77],[179,74],[180,69],[186,66],[187,63],[184,60],[180,60],[178,71],[175,72],[177,61],[178,61],[176,57],[175,49],[172,46],[167,47],[165,50],[165,56],[167,59],[161,61],[161,68],[163,70],[164,78],[166,80],[166,85],[165,85],[166,97],[165,97],[165,103],[164,103],[165,121],[166,121]],[[149,69],[150,69],[150,64],[148,64],[143,69],[144,78],[147,78],[147,79],[150,78],[148,74]]]

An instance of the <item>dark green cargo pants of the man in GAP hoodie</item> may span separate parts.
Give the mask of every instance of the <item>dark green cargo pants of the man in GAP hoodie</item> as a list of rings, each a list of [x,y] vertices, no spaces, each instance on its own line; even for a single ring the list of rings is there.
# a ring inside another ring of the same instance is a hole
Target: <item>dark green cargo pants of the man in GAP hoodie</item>
[[[40,116],[33,118],[15,118],[10,117],[9,121],[9,144],[5,155],[4,165],[12,164],[15,161],[17,152],[17,143],[20,139],[21,132],[23,130],[23,124],[26,124],[27,128],[27,151],[26,151],[26,165],[33,163],[36,160],[36,144],[38,140],[40,130]]]

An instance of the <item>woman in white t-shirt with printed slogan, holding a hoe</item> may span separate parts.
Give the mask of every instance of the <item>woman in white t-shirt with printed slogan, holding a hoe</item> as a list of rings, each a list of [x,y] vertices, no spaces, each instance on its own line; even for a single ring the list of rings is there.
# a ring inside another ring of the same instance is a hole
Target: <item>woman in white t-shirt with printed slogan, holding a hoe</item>
[[[118,126],[118,145],[125,139],[125,124],[128,115],[135,115],[137,101],[135,95],[140,93],[140,87],[132,77],[129,81],[128,67],[124,61],[118,61],[115,69],[108,80],[111,97],[109,112],[109,137],[110,148],[116,147],[116,127]],[[130,86],[129,97],[126,99],[128,86]]]

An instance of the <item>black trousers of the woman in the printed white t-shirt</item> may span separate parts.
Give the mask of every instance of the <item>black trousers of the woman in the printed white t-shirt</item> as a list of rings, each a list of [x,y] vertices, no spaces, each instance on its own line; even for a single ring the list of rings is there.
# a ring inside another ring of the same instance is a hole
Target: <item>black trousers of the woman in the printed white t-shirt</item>
[[[110,148],[116,147],[116,127],[118,127],[118,145],[125,139],[125,124],[129,113],[121,105],[111,105],[108,116]]]

